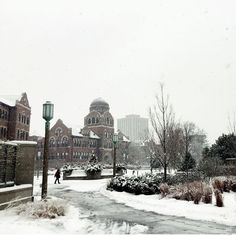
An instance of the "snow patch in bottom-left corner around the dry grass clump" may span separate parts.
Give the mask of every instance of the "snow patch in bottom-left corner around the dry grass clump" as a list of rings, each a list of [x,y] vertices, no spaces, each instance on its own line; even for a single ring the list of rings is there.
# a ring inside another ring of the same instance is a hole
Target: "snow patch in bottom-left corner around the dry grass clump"
[[[54,203],[58,204],[58,199],[54,198]],[[59,200],[59,204],[60,204]],[[31,204],[31,206],[30,206]],[[1,234],[21,233],[21,234],[38,234],[38,233],[74,233],[86,232],[83,225],[78,224],[78,209],[66,204],[65,216],[59,216],[54,219],[38,217],[34,213],[41,209],[41,203],[35,201],[27,205],[8,208],[0,211],[0,228]],[[41,209],[42,210],[42,209]]]

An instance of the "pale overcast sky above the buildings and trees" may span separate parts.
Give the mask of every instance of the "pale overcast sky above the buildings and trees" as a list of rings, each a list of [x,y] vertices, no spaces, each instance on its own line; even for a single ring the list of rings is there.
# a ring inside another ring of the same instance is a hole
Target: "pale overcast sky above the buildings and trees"
[[[235,0],[0,0],[0,94],[27,92],[31,133],[42,104],[83,126],[97,97],[114,118],[148,117],[164,82],[176,117],[210,143],[236,111]]]

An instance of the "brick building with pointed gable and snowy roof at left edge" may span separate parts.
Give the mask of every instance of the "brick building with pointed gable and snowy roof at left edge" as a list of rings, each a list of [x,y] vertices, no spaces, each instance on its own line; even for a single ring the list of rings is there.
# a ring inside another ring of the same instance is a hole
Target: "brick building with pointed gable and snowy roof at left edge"
[[[0,140],[28,140],[31,108],[26,93],[0,97]]]

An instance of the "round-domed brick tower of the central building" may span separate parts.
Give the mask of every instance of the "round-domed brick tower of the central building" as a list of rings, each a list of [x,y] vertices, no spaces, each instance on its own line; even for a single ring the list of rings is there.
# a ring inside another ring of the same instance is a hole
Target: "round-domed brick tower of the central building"
[[[84,118],[83,132],[92,130],[100,137],[98,157],[100,161],[112,163],[112,137],[114,119],[109,112],[109,104],[102,98],[92,101],[89,114]]]

